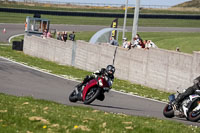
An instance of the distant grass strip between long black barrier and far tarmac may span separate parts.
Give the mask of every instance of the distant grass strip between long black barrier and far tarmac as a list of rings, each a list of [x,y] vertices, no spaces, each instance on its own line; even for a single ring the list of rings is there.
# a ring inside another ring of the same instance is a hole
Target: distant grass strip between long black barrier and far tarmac
[[[16,17],[17,16],[17,17]],[[27,16],[33,14],[20,13],[0,13],[0,23],[25,23]],[[75,17],[75,16],[53,16],[41,15],[42,18],[47,18],[51,24],[72,24],[72,25],[105,25],[110,27],[111,22],[115,18],[105,17]],[[119,18],[119,25],[123,25],[123,18]],[[127,19],[127,26],[133,25],[133,19]],[[144,27],[200,27],[199,20],[181,20],[181,19],[139,19],[139,26]]]

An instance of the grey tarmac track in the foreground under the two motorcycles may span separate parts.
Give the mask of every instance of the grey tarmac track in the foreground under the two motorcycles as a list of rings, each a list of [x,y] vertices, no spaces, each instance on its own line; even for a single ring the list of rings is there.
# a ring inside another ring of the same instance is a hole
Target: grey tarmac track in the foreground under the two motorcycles
[[[89,106],[106,112],[166,119],[162,114],[165,103],[121,94],[115,91],[106,93],[106,98],[103,102],[95,100],[91,105],[84,105],[81,102],[71,103],[68,100],[68,96],[76,84],[76,81],[46,74],[0,57],[1,93],[31,96],[66,105]],[[193,123],[180,118],[168,120],[200,126],[200,123]]]

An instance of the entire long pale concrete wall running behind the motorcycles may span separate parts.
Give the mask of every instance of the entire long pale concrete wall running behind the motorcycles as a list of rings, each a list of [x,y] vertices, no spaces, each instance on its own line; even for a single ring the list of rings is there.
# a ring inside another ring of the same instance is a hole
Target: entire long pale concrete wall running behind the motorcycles
[[[71,65],[87,71],[96,71],[112,64],[116,47],[92,45],[84,41],[59,41],[25,36],[24,53]],[[129,80],[144,86],[174,92],[192,85],[200,75],[200,53],[185,54],[162,49],[117,48],[115,59],[119,79]]]

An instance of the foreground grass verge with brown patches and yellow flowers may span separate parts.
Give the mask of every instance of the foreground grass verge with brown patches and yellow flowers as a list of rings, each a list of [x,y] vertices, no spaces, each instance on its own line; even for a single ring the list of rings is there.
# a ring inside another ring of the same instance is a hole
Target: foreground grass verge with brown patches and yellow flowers
[[[199,127],[169,120],[107,113],[0,93],[2,133],[197,133]]]

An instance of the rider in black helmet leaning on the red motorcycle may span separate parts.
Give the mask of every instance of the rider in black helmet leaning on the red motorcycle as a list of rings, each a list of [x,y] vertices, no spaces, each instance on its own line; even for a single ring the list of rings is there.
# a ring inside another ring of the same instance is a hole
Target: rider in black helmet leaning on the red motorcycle
[[[115,67],[113,65],[108,65],[106,68],[101,68],[101,70],[95,71],[92,75],[89,76],[87,75],[84,78],[83,82],[77,85],[77,89],[79,92],[82,91],[82,89],[84,88],[83,85],[85,83],[102,75],[105,76],[106,81],[108,82],[109,86],[111,86],[114,80],[114,73],[115,73]]]

